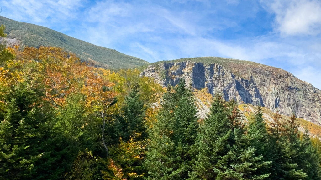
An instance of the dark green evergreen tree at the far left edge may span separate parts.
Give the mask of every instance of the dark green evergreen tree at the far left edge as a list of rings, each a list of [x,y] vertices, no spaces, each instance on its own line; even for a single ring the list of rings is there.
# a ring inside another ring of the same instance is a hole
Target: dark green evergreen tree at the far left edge
[[[47,149],[47,123],[51,110],[42,103],[43,93],[29,80],[10,86],[0,111],[0,179],[31,179],[37,175],[37,161]]]

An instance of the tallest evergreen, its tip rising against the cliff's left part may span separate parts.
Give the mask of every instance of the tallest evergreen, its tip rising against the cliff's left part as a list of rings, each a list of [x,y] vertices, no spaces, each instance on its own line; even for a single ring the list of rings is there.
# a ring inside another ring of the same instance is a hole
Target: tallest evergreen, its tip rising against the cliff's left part
[[[197,136],[196,107],[185,80],[168,88],[157,122],[150,130],[145,167],[147,179],[187,179],[193,162],[192,145]]]

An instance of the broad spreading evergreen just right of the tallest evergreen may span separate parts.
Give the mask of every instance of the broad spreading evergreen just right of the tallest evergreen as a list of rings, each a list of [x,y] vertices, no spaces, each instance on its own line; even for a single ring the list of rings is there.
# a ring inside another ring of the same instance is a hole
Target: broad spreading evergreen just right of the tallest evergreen
[[[270,162],[248,144],[237,104],[226,103],[216,94],[197,136],[199,153],[190,179],[265,179],[269,174],[258,174],[257,169]]]

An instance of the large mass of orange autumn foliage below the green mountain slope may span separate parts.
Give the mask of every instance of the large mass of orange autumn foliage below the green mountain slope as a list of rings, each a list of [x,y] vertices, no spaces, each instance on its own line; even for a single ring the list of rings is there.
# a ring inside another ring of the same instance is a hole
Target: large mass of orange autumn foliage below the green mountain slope
[[[58,47],[26,47],[23,51],[10,49],[16,55],[14,61],[6,62],[0,69],[0,84],[5,85],[8,71],[15,81],[24,78],[44,87],[44,100],[62,106],[68,94],[80,92],[86,95],[88,105],[108,105],[116,93],[110,91],[113,83],[107,81],[106,70],[98,70],[81,63],[73,53]],[[8,70],[7,70],[8,69]],[[6,83],[11,84],[11,83]],[[104,90],[105,89],[105,90]]]

